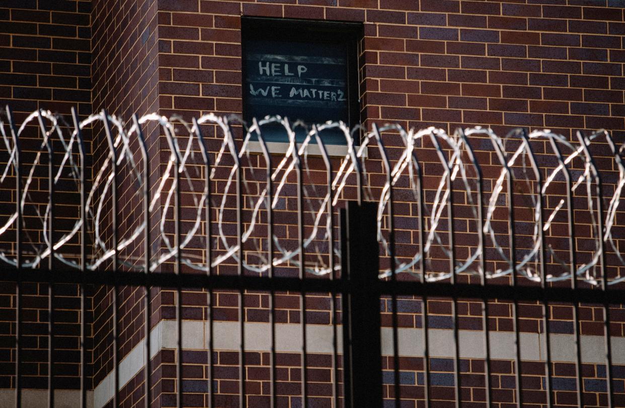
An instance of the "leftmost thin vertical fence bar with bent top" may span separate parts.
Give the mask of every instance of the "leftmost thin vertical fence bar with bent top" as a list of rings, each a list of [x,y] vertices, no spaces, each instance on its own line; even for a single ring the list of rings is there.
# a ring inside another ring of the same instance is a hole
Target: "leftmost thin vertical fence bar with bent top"
[[[15,194],[16,194],[16,266],[17,279],[15,282],[15,406],[22,406],[22,280],[19,271],[22,269],[22,166],[19,146],[19,135],[13,124],[13,114],[11,107],[6,106],[6,116],[11,128],[11,138],[15,149]]]

